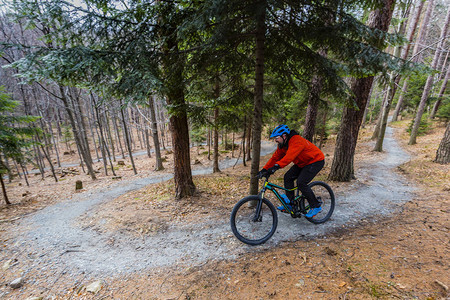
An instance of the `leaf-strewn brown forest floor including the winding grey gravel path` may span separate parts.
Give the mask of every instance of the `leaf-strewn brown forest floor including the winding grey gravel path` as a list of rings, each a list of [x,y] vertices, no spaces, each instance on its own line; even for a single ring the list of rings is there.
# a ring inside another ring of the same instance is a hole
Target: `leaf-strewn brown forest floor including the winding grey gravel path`
[[[408,124],[391,124],[383,153],[361,132],[357,178],[330,182],[330,221],[279,214],[277,232],[257,247],[240,243],[228,222],[248,192],[249,166],[196,175],[197,194],[179,201],[168,152],[163,172],[143,155],[140,173],[125,160],[119,179],[90,181],[79,167],[63,168],[58,183],[16,179],[13,205],[0,205],[0,298],[448,299],[450,166],[432,162],[445,126],[408,146]],[[326,181],[333,150],[331,138],[316,179]],[[191,154],[194,174],[211,169],[206,155]],[[75,192],[78,179],[84,189]]]

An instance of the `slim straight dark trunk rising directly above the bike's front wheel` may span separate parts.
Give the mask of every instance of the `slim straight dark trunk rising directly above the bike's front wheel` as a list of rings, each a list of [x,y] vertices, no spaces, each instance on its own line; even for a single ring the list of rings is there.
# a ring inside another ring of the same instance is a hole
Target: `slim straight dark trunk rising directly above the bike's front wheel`
[[[250,195],[258,193],[259,161],[261,153],[262,106],[264,102],[264,52],[266,41],[266,6],[267,2],[258,2],[256,10],[256,46],[255,46],[255,98],[253,102],[252,125],[252,165],[250,172]]]

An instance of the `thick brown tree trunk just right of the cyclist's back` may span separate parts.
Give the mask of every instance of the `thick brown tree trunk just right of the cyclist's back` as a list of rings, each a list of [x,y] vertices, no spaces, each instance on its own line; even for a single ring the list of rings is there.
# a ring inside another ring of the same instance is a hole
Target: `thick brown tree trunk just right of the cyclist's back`
[[[384,5],[382,8],[371,12],[368,26],[387,31],[391,22],[395,1],[384,0],[383,2]],[[378,46],[382,48],[384,46],[383,41],[379,43]],[[344,108],[341,127],[336,140],[334,159],[328,176],[329,180],[350,181],[355,176],[354,155],[356,143],[373,80],[374,77],[371,76],[354,79],[351,83],[351,90],[355,95],[356,107]]]

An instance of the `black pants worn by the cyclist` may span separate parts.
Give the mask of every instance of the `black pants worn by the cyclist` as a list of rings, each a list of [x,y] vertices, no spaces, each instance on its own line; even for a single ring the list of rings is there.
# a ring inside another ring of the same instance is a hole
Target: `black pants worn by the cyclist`
[[[314,196],[311,188],[308,187],[308,183],[310,183],[311,180],[313,180],[313,178],[317,175],[317,173],[322,170],[324,165],[325,161],[323,160],[316,161],[315,163],[306,165],[303,168],[300,168],[297,165],[293,165],[284,175],[284,187],[287,189],[293,189],[295,187],[294,181],[295,179],[297,179],[298,189],[308,200],[309,206],[311,208],[319,207],[319,202],[317,201],[316,196]],[[288,196],[288,198],[292,200],[294,199],[295,195],[293,191],[287,191],[286,196]]]

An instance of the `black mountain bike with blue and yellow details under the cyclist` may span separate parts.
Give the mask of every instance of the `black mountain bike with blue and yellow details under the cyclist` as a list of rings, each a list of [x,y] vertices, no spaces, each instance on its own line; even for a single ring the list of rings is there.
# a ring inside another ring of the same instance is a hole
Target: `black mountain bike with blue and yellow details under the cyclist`
[[[292,218],[300,218],[308,213],[310,207],[305,196],[299,193],[298,187],[286,189],[282,186],[269,182],[269,176],[265,177],[264,184],[258,195],[247,196],[234,206],[231,211],[231,230],[243,243],[248,245],[260,245],[267,242],[278,226],[278,215],[275,206],[264,198],[266,191],[275,194],[285,213]],[[335,199],[331,187],[322,181],[309,183],[314,195],[321,204],[322,211],[312,218],[305,217],[309,222],[321,224],[330,219],[334,211]],[[295,191],[293,201],[286,203],[280,194],[280,190]]]

